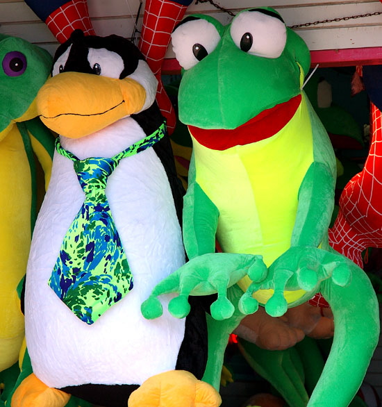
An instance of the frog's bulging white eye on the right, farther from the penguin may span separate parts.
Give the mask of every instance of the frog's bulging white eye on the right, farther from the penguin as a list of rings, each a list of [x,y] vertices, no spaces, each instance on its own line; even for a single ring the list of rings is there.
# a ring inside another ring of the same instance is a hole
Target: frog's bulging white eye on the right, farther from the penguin
[[[280,15],[254,8],[240,13],[231,24],[231,37],[244,52],[279,58],[286,43],[286,27]]]

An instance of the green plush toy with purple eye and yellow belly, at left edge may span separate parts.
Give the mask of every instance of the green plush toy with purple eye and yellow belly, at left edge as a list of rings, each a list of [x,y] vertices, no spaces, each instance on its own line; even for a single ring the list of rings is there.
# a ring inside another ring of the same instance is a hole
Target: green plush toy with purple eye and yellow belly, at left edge
[[[0,61],[0,380],[5,387],[1,401],[12,388],[24,340],[17,286],[26,272],[38,195],[44,190],[38,181],[49,182],[54,142],[37,117],[35,104],[50,75],[51,56],[26,40],[1,34]],[[35,158],[44,176],[40,177]]]

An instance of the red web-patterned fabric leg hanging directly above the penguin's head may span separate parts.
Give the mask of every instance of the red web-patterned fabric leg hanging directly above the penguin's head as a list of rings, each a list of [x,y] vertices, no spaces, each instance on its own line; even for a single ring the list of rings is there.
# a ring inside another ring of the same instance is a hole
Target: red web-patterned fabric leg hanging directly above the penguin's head
[[[61,44],[70,37],[76,28],[80,28],[85,35],[95,35],[86,0],[68,1],[53,11],[45,23]]]

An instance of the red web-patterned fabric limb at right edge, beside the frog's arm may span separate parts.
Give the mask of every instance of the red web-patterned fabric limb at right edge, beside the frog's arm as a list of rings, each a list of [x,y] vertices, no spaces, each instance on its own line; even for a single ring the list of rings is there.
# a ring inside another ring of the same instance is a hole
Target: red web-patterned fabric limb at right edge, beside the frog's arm
[[[361,252],[382,247],[382,117],[370,103],[372,142],[365,166],[342,191],[340,213],[329,231],[331,246],[363,266]]]

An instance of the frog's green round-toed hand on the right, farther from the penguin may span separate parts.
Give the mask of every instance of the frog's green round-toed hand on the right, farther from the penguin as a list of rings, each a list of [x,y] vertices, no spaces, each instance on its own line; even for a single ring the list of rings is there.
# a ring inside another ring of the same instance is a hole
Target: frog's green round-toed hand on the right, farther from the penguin
[[[249,285],[242,300],[252,297],[257,290],[272,289],[274,293],[265,310],[272,317],[281,317],[288,309],[285,291],[302,290],[300,299],[292,304],[299,305],[318,292],[326,280],[340,287],[349,284],[351,267],[343,256],[315,247],[291,247],[269,267],[264,281]]]

